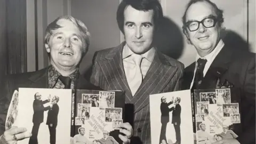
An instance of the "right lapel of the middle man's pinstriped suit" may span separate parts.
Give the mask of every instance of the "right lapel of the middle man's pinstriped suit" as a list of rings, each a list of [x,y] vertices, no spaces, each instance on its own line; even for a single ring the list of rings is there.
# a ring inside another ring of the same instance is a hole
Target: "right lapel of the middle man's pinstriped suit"
[[[162,53],[156,51],[155,58],[149,67],[147,75],[132,98],[135,113],[148,105],[149,94],[162,92],[164,87],[171,81],[177,69],[177,67],[170,65],[170,62]]]

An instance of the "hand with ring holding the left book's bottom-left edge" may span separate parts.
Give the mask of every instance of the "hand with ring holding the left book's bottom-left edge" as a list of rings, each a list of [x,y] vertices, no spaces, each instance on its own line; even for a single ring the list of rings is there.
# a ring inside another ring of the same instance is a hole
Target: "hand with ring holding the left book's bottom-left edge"
[[[32,134],[27,132],[25,127],[13,126],[10,130],[4,132],[1,137],[0,143],[16,143],[18,140],[31,137]]]

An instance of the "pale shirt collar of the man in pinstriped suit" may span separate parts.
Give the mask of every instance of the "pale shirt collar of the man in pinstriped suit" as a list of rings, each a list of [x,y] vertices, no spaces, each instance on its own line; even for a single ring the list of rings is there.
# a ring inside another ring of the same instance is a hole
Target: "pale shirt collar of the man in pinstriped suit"
[[[142,55],[143,58],[152,62],[154,60],[154,57],[155,57],[155,52],[156,52],[155,47],[152,47],[150,50],[148,50],[147,52],[145,52],[141,55]],[[128,47],[127,44],[125,44],[124,49],[123,49],[123,59],[126,59],[126,58],[130,57],[132,54],[134,54],[134,52],[130,50],[130,48]]]

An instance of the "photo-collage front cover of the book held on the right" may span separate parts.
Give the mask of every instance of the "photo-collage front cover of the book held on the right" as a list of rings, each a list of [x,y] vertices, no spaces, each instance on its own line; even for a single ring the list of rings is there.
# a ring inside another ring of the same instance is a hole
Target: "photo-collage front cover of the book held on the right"
[[[239,137],[242,132],[240,103],[240,91],[236,88],[194,90],[197,143]]]

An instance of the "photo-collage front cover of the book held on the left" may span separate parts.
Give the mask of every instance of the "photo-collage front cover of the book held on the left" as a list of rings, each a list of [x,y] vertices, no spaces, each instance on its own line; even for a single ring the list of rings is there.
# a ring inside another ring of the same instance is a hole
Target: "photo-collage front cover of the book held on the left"
[[[124,97],[116,93],[77,90],[75,133],[74,137],[71,135],[71,143],[121,143],[117,140],[117,126],[123,123]]]

